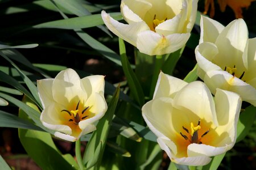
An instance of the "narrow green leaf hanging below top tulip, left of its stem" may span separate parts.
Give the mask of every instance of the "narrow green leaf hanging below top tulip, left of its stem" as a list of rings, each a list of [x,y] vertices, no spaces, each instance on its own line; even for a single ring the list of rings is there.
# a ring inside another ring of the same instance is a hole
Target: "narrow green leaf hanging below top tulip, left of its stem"
[[[129,84],[131,94],[134,96],[135,100],[142,107],[143,104],[145,103],[143,90],[137,76],[131,69],[129,60],[127,59],[125,42],[123,42],[123,40],[120,38],[119,38],[119,50],[120,50],[123,72],[125,73],[125,76],[127,78],[127,82]]]

